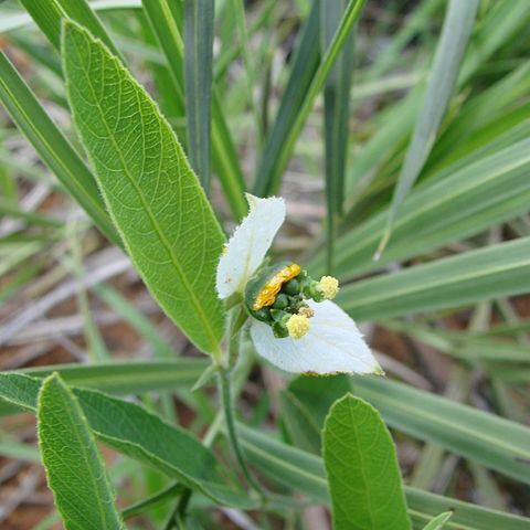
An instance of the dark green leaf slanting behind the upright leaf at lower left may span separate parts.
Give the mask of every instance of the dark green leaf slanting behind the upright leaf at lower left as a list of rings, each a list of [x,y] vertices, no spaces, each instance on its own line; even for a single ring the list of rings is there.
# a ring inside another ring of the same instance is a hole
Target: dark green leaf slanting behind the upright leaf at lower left
[[[34,412],[41,384],[41,380],[29,375],[1,373],[0,398]],[[153,466],[219,504],[253,506],[247,496],[224,484],[213,453],[187,431],[169,425],[139,405],[97,391],[74,389],[73,393],[94,434],[109,447]]]

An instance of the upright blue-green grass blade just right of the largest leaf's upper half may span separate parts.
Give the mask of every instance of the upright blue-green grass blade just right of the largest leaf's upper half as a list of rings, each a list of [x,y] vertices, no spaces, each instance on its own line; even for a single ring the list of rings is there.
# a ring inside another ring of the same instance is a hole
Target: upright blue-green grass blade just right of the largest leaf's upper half
[[[184,0],[184,80],[191,167],[208,191],[213,70],[213,0]]]

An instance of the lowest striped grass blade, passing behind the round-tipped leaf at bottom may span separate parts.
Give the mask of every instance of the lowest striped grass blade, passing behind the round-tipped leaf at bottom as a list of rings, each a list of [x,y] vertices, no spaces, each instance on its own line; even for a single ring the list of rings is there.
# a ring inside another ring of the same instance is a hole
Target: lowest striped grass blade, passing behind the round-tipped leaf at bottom
[[[250,462],[275,484],[284,485],[309,499],[329,505],[328,483],[321,458],[288,446],[263,432],[240,424],[237,432]],[[409,515],[414,528],[423,528],[444,511],[454,516],[447,529],[462,530],[527,530],[530,519],[489,508],[470,505],[416,488],[404,488]]]

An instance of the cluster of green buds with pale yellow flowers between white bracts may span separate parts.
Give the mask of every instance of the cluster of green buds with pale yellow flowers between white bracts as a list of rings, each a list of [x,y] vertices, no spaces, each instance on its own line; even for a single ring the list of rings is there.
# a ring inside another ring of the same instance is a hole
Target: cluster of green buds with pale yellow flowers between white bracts
[[[277,271],[275,274],[271,273],[272,277],[267,274],[269,274],[268,269],[262,272],[263,277],[258,273],[251,288],[247,289],[252,296],[247,296],[246,304],[251,315],[268,324],[276,338],[299,339],[304,337],[309,330],[309,319],[314,316],[312,309],[305,300],[312,299],[319,303],[331,299],[339,289],[338,280],[331,276],[324,276],[320,282],[316,282],[308,276],[306,271],[300,271],[297,276],[282,285],[272,304],[254,310],[253,304],[255,304],[256,297],[259,297],[263,289],[269,288],[278,277]],[[255,289],[256,284],[262,286],[261,290]]]

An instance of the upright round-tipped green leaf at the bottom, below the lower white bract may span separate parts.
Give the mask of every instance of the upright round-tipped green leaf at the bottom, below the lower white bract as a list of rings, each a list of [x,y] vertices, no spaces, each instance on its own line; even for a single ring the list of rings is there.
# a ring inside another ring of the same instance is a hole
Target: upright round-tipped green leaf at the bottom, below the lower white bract
[[[336,530],[406,530],[395,447],[375,409],[346,395],[326,418],[322,455]]]

